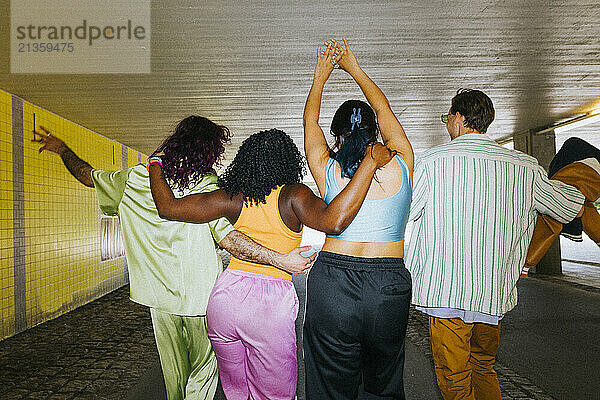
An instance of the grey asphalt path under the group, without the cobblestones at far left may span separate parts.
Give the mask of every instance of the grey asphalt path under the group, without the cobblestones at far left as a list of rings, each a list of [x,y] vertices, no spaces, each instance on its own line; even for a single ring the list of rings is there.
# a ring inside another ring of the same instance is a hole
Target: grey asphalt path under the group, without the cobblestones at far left
[[[303,306],[305,280],[296,278],[294,284]],[[496,364],[502,399],[600,399],[600,290],[558,278],[522,279],[518,290],[519,304],[502,320]],[[415,310],[411,310],[406,355],[407,399],[441,398],[433,374],[427,318]],[[299,362],[299,400],[304,399],[303,374]],[[160,382],[160,366],[154,365],[148,376]],[[164,399],[160,389],[146,381],[137,390],[130,400]],[[215,399],[224,397],[218,394]]]

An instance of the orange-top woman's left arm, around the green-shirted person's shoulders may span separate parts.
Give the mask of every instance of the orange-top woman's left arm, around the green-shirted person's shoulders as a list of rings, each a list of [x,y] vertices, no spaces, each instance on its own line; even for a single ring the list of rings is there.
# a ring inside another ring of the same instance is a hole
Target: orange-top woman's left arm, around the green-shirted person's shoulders
[[[209,222],[221,217],[227,217],[231,223],[237,219],[233,210],[235,204],[229,199],[224,190],[196,193],[176,198],[171,187],[167,184],[160,163],[150,163],[150,189],[152,197],[162,218],[183,222]],[[239,214],[239,209],[237,210]]]

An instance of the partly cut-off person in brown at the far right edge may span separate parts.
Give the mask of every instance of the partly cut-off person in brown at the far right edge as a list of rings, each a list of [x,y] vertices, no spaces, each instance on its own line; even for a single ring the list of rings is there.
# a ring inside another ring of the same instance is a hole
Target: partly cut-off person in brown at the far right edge
[[[538,216],[522,276],[527,276],[529,269],[540,262],[559,234],[581,242],[581,234],[585,232],[600,246],[600,214],[594,206],[600,201],[600,149],[583,139],[567,139],[552,159],[548,177],[572,185],[584,194],[583,214],[567,224],[548,215]]]

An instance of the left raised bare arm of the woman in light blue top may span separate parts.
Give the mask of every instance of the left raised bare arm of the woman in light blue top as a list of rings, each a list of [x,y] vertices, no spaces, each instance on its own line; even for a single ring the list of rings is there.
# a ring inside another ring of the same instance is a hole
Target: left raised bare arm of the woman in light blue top
[[[317,183],[321,194],[325,192],[325,164],[329,158],[329,146],[321,126],[319,115],[321,113],[321,98],[325,82],[333,71],[333,63],[341,57],[334,55],[334,48],[329,44],[324,52],[317,49],[317,62],[313,83],[306,98],[302,123],[304,125],[304,152],[308,161],[310,172]]]

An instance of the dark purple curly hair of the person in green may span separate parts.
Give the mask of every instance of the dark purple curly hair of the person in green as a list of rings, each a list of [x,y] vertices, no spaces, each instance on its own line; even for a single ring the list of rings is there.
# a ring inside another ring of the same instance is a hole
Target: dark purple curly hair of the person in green
[[[163,152],[163,173],[180,192],[192,187],[206,174],[214,173],[230,140],[226,126],[208,118],[191,115],[175,127],[175,132],[156,149]]]

